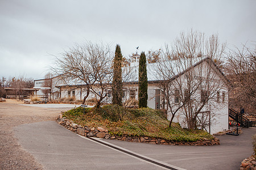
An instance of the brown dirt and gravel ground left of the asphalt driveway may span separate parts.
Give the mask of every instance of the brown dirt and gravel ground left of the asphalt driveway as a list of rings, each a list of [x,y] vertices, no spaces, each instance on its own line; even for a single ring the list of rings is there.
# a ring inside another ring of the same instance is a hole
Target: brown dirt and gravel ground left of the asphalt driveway
[[[55,120],[67,108],[38,108],[18,105],[22,101],[7,99],[0,103],[0,169],[43,169],[35,158],[20,147],[14,126]]]

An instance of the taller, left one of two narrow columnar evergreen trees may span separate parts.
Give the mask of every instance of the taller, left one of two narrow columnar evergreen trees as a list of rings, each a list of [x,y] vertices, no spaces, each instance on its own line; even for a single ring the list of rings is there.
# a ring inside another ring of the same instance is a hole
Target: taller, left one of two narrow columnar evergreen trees
[[[120,45],[115,47],[114,76],[112,82],[112,103],[122,105],[122,53]]]

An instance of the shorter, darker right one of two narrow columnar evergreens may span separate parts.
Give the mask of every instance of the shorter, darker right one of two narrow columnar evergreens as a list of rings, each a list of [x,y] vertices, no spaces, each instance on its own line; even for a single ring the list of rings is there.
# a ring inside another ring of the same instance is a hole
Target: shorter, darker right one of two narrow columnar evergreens
[[[139,108],[147,107],[147,63],[144,52],[139,57]]]

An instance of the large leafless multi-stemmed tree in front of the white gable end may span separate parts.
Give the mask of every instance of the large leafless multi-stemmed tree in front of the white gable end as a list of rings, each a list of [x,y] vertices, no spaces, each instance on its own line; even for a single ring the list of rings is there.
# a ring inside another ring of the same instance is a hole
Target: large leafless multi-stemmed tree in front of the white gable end
[[[215,35],[205,39],[203,33],[192,29],[187,34],[181,32],[171,48],[166,45],[155,71],[163,80],[159,87],[172,116],[170,126],[181,112],[188,128],[195,129],[203,108],[216,100],[224,84],[214,61],[219,61],[224,49],[225,44],[220,45]]]

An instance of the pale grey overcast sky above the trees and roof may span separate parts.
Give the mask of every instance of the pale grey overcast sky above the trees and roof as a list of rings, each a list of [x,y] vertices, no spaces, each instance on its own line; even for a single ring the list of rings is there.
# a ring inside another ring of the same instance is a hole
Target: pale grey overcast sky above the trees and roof
[[[123,56],[159,49],[193,28],[222,42],[255,44],[256,1],[0,0],[0,76],[43,78],[75,43],[121,45]]]

